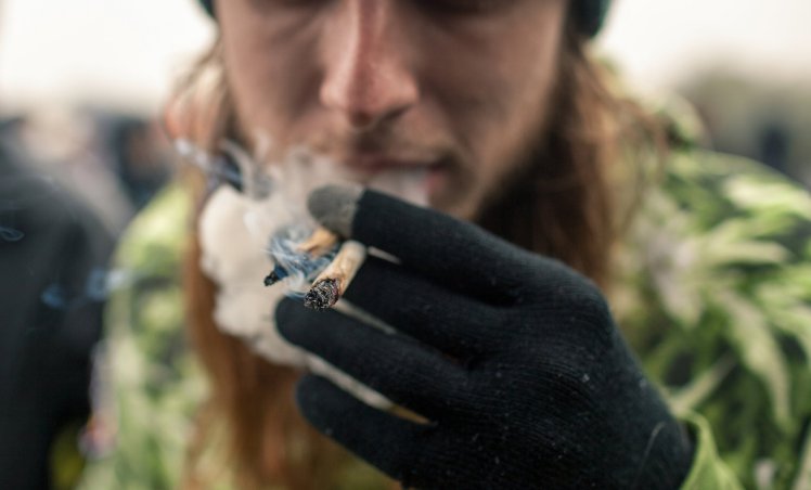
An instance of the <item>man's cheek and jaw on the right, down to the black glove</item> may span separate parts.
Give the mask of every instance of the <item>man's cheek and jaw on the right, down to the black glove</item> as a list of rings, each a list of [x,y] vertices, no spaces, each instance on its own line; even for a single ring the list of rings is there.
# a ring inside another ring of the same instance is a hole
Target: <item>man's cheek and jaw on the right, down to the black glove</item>
[[[440,93],[465,175],[456,179],[453,214],[474,216],[538,144],[557,76],[559,36],[554,25],[541,34],[504,33],[505,42],[479,47],[446,68],[445,80],[455,81]]]

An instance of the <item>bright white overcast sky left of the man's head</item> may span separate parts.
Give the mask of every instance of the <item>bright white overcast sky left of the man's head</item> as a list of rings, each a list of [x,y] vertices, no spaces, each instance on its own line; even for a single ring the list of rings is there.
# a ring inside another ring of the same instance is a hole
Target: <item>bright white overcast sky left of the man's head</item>
[[[154,114],[214,37],[193,0],[4,0],[3,111],[93,103]]]

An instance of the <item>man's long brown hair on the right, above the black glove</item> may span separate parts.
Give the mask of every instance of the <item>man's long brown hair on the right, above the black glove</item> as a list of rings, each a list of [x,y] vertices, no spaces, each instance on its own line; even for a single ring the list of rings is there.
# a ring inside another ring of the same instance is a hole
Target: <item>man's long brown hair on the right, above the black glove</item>
[[[594,60],[575,25],[565,36],[550,119],[531,162],[478,224],[566,262],[608,292],[617,240],[660,169],[645,158],[652,154],[661,160],[664,128],[617,93],[613,75]],[[639,153],[620,158],[629,151]],[[639,165],[629,168],[627,160],[636,158]]]

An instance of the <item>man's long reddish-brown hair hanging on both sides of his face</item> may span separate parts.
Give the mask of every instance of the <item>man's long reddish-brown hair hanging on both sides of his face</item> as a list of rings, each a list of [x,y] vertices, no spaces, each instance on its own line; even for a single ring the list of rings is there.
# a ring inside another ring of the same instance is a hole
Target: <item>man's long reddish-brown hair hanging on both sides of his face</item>
[[[644,181],[641,169],[629,172],[613,165],[633,142],[660,139],[644,112],[612,90],[604,68],[589,53],[588,39],[574,23],[565,36],[555,104],[544,134],[539,136],[532,165],[527,175],[516,179],[522,183],[511,188],[515,192],[490,203],[478,221],[519,246],[565,261],[607,289],[612,250],[634,207],[633,198],[616,198],[620,193],[615,177],[621,177],[623,191],[631,188],[631,192],[621,193],[623,196],[641,195],[638,191]],[[191,116],[184,113],[197,143],[207,147],[235,130],[220,50],[218,42],[181,83],[176,98],[176,102],[188,99],[192,88],[208,80],[205,112],[192,103],[185,105],[196,112]],[[202,199],[202,179],[192,180]],[[195,479],[193,461],[195,449],[208,436],[210,420],[227,423],[241,486],[327,487],[348,455],[309,428],[295,410],[297,374],[293,370],[269,364],[217,328],[211,318],[216,286],[198,263],[195,240],[185,268],[188,325],[210,378],[211,397],[201,412],[196,442],[191,447],[186,487],[201,483]]]

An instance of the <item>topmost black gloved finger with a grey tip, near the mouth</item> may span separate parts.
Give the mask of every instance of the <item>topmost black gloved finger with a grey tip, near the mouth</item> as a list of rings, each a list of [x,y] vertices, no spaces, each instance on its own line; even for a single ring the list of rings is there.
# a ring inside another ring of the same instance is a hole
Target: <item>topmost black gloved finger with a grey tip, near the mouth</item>
[[[310,194],[310,214],[324,227],[399,258],[454,291],[513,299],[528,278],[528,255],[480,228],[375,191],[330,185]]]

